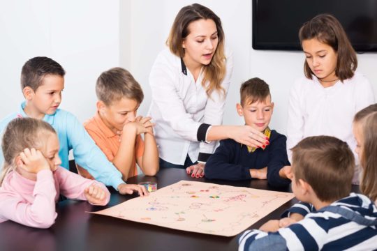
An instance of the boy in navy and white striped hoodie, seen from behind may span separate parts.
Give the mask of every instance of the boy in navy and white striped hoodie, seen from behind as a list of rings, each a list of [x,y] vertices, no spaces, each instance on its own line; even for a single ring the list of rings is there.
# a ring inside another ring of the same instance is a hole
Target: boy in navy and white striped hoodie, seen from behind
[[[288,227],[282,227],[287,219],[270,220],[245,231],[239,250],[377,249],[377,208],[364,195],[350,193],[355,161],[348,145],[316,136],[292,151],[292,190],[316,210]]]

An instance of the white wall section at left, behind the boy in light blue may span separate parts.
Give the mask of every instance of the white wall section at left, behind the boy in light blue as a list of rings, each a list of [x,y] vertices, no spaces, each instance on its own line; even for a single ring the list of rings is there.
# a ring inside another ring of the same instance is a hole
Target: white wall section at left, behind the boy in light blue
[[[66,70],[62,109],[80,121],[95,112],[98,75],[119,65],[119,1],[0,1],[0,118],[23,100],[20,73],[34,56]]]

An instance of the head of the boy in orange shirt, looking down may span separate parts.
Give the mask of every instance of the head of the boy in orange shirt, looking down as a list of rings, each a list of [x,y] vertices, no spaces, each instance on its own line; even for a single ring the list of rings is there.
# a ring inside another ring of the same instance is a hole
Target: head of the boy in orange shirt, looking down
[[[111,68],[97,79],[97,109],[107,126],[122,130],[135,121],[144,94],[140,84],[124,68]]]

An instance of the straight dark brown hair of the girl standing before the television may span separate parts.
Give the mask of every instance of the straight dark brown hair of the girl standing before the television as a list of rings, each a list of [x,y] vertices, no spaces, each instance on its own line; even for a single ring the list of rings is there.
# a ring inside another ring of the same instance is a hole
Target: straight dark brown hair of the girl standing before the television
[[[312,38],[316,38],[320,43],[330,45],[334,52],[337,52],[335,75],[342,82],[353,77],[357,68],[357,56],[337,18],[330,14],[317,15],[309,22],[304,23],[300,29],[299,38],[301,45],[302,41]],[[313,72],[306,60],[304,73],[308,79],[312,79]]]

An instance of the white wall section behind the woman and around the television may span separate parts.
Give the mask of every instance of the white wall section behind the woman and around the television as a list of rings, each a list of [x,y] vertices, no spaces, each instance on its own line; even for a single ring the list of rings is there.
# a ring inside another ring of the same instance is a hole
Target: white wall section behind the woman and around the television
[[[188,0],[132,0],[121,15],[131,16],[131,33],[128,34],[131,63],[121,63],[128,67],[142,84],[145,102],[140,114],[146,114],[151,97],[148,75],[158,52],[165,47],[170,26],[178,11],[195,1]],[[286,133],[288,92],[297,77],[303,75],[304,54],[302,52],[279,52],[253,50],[251,47],[251,1],[206,0],[196,1],[205,5],[221,17],[226,33],[226,44],[233,52],[234,70],[229,89],[224,124],[243,123],[235,111],[239,102],[239,86],[251,77],[260,77],[269,85],[275,102],[272,128]],[[121,30],[127,33],[126,29]],[[126,43],[124,43],[126,45]],[[121,47],[124,46],[121,44]],[[377,54],[360,54],[359,68],[370,79],[377,93]]]

